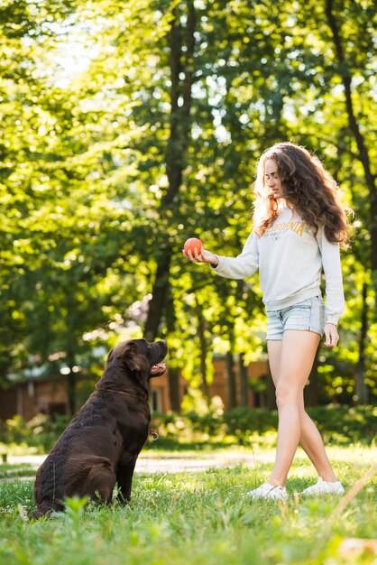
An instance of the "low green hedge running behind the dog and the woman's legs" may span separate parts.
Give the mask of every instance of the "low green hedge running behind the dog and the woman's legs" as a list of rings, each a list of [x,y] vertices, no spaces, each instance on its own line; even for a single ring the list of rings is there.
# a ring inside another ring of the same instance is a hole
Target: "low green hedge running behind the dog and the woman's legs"
[[[371,405],[349,407],[340,404],[309,408],[309,416],[326,444],[374,445],[377,435],[377,409]],[[0,454],[33,449],[38,453],[51,450],[65,430],[68,419],[57,416],[54,421],[39,415],[25,422],[19,416],[2,424]],[[144,449],[201,449],[216,446],[273,446],[277,437],[277,412],[238,407],[228,412],[184,412],[153,414],[152,430],[159,439],[147,442]],[[17,446],[19,448],[17,449]]]

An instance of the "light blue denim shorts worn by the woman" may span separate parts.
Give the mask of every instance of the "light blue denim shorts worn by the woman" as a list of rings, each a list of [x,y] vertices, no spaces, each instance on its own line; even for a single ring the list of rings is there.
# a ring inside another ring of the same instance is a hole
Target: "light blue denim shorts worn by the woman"
[[[308,298],[282,310],[267,310],[267,339],[282,339],[286,329],[314,331],[322,338],[325,321],[322,296]]]

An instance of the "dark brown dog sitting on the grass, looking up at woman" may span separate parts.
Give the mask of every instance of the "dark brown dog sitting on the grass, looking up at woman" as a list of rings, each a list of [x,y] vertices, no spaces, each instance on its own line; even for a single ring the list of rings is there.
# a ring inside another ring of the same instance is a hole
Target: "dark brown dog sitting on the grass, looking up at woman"
[[[66,496],[110,502],[115,483],[129,500],[136,459],[148,437],[148,381],[163,375],[165,341],[132,339],[110,351],[104,375],[37,471],[35,518],[64,510]]]

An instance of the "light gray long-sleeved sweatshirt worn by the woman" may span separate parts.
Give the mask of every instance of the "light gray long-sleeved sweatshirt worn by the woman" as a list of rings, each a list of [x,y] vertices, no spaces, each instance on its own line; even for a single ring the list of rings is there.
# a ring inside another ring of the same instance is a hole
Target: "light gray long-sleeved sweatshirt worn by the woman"
[[[229,279],[244,279],[259,269],[266,310],[282,310],[321,294],[322,268],[326,281],[326,321],[337,323],[345,309],[339,245],[330,243],[323,227],[314,236],[290,208],[259,237],[247,238],[241,255],[216,255],[215,272]]]

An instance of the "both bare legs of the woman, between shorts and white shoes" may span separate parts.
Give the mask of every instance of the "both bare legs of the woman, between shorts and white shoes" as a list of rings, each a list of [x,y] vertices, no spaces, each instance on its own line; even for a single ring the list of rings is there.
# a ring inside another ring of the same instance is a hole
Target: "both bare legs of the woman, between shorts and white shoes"
[[[303,402],[304,386],[318,343],[318,334],[296,330],[285,331],[281,341],[268,341],[271,375],[279,410],[278,448],[269,480],[271,485],[285,484],[299,442],[318,475],[326,481],[336,481],[321,436],[305,412]]]

